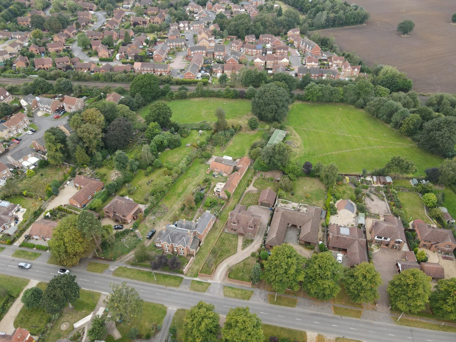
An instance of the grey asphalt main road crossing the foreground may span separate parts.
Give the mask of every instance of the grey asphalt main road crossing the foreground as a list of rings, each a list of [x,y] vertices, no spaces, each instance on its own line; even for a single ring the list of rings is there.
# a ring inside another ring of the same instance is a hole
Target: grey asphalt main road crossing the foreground
[[[58,266],[40,262],[30,262],[31,269],[19,269],[19,262],[27,260],[0,255],[0,273],[39,281],[49,281],[57,274]],[[91,273],[78,269],[70,269],[77,276],[78,284],[84,289],[109,292],[109,283],[119,284],[122,278]],[[198,301],[212,303],[215,310],[226,315],[228,310],[236,306],[249,306],[264,323],[318,332],[331,336],[352,338],[365,342],[415,341],[415,342],[449,342],[456,341],[456,334],[432,330],[397,326],[367,320],[322,314],[314,311],[273,306],[265,303],[242,301],[225,298],[219,295],[192,292],[159,285],[152,285],[135,280],[126,280],[135,287],[145,301],[164,304],[177,308],[189,308]]]

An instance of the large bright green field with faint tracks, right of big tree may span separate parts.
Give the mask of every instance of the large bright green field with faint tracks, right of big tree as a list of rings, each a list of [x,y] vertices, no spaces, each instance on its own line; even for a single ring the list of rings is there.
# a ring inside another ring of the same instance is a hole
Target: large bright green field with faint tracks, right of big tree
[[[402,155],[415,162],[416,175],[424,175],[426,168],[442,161],[365,111],[344,104],[295,102],[286,124],[290,140],[299,146],[293,154],[301,163],[334,162],[339,172],[361,172]]]

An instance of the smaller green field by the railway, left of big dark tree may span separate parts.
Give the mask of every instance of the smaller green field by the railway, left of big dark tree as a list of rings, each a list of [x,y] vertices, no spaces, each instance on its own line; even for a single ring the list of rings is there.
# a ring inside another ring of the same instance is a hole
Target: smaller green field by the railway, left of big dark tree
[[[172,110],[173,121],[179,124],[190,124],[201,121],[216,121],[215,109],[221,107],[225,110],[226,119],[238,122],[240,119],[247,121],[252,110],[250,100],[228,98],[187,98],[166,103]],[[149,106],[137,110],[143,118],[149,113]],[[235,120],[234,120],[235,119]]]

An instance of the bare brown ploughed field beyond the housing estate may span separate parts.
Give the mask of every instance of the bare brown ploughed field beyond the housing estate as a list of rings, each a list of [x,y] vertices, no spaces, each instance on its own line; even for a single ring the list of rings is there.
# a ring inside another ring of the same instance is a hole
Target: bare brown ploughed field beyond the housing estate
[[[356,51],[369,66],[377,62],[397,67],[413,80],[417,92],[456,93],[456,25],[451,25],[455,0],[354,2],[370,13],[364,25],[321,30],[321,34],[332,33],[341,51]],[[410,37],[396,31],[404,20],[415,23]]]

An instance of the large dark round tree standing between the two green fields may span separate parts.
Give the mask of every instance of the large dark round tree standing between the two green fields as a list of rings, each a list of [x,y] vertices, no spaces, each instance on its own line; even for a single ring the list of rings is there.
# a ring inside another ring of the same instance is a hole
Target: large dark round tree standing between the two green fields
[[[281,122],[288,114],[290,93],[276,83],[260,87],[252,99],[252,114],[266,122]]]

